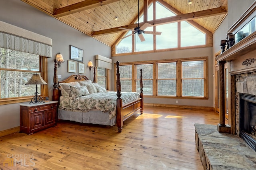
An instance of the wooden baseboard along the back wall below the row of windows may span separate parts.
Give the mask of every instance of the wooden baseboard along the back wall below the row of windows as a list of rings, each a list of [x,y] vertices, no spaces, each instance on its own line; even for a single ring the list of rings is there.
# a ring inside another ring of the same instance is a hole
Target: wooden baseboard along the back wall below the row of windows
[[[206,106],[186,106],[186,105],[151,104],[151,103],[144,103],[144,106],[159,106],[159,107],[170,107],[170,108],[173,108],[173,109],[190,109],[190,110],[214,111],[214,107],[206,107]]]

